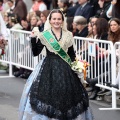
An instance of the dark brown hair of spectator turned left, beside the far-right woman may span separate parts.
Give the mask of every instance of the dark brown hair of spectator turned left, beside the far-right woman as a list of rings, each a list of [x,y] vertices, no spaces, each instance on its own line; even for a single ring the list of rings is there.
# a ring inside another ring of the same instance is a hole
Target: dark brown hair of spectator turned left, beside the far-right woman
[[[108,21],[105,18],[98,18],[96,23],[97,38],[108,33]]]

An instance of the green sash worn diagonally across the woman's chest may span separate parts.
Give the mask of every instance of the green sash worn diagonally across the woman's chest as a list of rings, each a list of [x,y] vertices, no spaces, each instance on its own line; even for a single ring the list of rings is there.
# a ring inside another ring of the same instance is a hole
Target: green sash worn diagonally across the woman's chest
[[[65,60],[69,65],[71,64],[71,59],[69,55],[61,48],[57,40],[51,35],[49,31],[44,31],[42,33],[46,41],[50,44],[50,46],[58,53],[58,55]]]

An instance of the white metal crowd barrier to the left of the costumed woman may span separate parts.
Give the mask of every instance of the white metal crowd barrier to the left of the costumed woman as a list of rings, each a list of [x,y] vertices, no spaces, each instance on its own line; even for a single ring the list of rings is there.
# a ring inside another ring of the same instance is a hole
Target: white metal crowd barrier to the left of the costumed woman
[[[43,49],[39,56],[33,57],[29,43],[30,32],[10,29],[9,33],[6,54],[0,59],[0,62],[9,64],[9,76],[1,77],[12,77],[13,65],[33,70],[36,64],[46,55],[45,49]]]

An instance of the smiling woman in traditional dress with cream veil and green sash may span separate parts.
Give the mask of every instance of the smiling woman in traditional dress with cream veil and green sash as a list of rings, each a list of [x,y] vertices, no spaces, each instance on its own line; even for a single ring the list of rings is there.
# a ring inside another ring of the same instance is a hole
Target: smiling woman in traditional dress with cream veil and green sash
[[[44,31],[33,29],[34,56],[46,47],[46,57],[27,80],[20,101],[20,120],[93,120],[88,94],[71,69],[75,60],[73,35],[60,10],[52,10]]]

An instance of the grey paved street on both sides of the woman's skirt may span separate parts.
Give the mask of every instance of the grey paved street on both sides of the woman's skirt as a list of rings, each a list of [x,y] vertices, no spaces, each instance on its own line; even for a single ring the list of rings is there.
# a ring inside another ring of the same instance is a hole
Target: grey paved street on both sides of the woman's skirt
[[[24,84],[24,79],[0,78],[0,120],[18,120],[18,106]],[[110,107],[110,103],[90,101],[90,106],[95,120],[120,120],[120,110],[100,111],[98,109]]]

